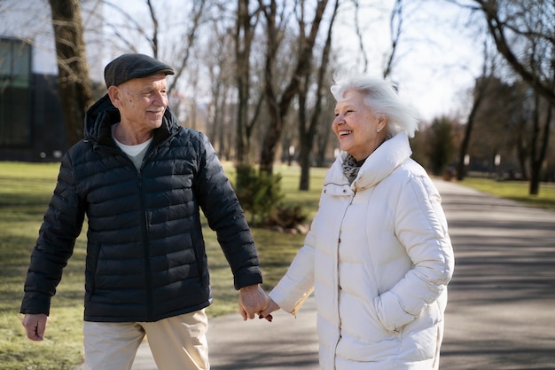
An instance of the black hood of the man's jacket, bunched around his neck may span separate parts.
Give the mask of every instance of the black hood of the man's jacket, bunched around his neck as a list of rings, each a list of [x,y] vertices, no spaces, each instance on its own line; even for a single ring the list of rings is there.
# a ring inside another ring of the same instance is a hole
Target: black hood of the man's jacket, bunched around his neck
[[[113,123],[120,121],[120,111],[113,106],[110,97],[106,94],[87,110],[85,114],[84,138],[98,142],[99,138],[105,136],[106,130],[109,130]],[[157,137],[160,131],[165,132],[167,135],[172,135],[180,127],[176,115],[167,107],[162,119],[162,125],[159,129],[155,130],[154,137]]]

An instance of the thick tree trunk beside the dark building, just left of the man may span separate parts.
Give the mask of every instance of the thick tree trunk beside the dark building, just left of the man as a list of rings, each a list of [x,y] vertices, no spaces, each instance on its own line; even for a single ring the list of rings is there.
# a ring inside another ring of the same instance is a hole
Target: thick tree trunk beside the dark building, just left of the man
[[[69,145],[82,139],[85,112],[93,102],[78,0],[50,0],[56,38],[59,94]]]

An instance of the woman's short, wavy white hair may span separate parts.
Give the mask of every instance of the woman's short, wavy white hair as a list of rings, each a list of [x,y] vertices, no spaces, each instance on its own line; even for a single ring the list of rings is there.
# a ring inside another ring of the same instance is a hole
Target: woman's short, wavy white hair
[[[401,101],[391,83],[367,75],[336,75],[333,80],[331,90],[337,101],[343,98],[346,91],[357,91],[363,94],[367,106],[377,114],[387,115],[387,133],[391,137],[401,131],[405,131],[409,138],[414,137],[418,130],[416,114]]]

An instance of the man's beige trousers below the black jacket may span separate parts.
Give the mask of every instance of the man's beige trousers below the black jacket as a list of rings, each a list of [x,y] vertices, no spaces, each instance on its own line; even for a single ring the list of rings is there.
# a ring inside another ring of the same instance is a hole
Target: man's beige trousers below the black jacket
[[[85,321],[84,370],[130,370],[145,335],[160,370],[207,370],[207,327],[204,310],[156,322]]]

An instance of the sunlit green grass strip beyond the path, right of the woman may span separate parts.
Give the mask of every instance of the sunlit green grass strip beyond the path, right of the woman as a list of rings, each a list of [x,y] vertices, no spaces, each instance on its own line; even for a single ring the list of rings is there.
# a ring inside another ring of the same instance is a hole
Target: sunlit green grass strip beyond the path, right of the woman
[[[528,181],[496,181],[489,178],[466,177],[460,184],[531,207],[555,210],[554,184],[541,183],[537,195],[528,194]]]

